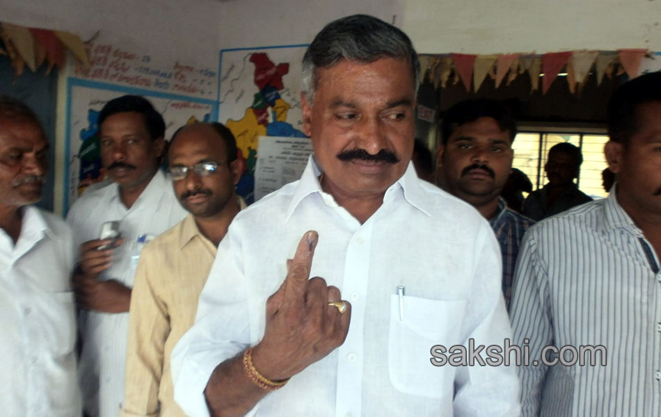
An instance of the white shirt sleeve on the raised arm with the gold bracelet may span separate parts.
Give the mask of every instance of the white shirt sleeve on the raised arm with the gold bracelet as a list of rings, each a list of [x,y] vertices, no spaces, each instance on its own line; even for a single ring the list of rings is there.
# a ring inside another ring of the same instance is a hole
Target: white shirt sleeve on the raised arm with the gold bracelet
[[[248,300],[236,220],[218,246],[198,304],[195,324],[175,345],[175,401],[189,416],[209,416],[204,391],[218,364],[250,343]]]

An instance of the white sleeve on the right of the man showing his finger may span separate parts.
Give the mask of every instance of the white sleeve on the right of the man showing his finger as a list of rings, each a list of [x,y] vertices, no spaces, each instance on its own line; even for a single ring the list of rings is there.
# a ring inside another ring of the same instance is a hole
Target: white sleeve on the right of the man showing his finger
[[[473,256],[476,260],[468,312],[463,325],[464,345],[475,347],[504,344],[511,327],[501,290],[502,256],[491,227],[484,222],[478,231]],[[481,352],[486,358],[486,353]],[[518,416],[520,385],[514,366],[459,366],[455,375],[456,416]]]

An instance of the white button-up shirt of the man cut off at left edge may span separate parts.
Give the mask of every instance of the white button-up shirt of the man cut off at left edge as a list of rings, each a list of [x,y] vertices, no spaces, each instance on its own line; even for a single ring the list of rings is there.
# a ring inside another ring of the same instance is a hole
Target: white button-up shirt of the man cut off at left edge
[[[0,229],[0,413],[80,416],[71,231],[23,210],[16,244]]]

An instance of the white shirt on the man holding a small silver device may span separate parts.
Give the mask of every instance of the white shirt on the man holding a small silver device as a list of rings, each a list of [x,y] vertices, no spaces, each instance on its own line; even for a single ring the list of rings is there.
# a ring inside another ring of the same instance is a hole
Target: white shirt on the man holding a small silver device
[[[145,245],[138,238],[154,238],[187,214],[175,197],[172,182],[159,170],[131,208],[122,203],[118,184],[111,183],[77,199],[67,222],[79,247],[98,239],[104,222],[120,221],[124,243],[116,248],[111,267],[99,279],[117,279],[130,287]],[[79,325],[83,340],[79,377],[85,411],[90,416],[116,417],[124,398],[129,313],[81,311]]]

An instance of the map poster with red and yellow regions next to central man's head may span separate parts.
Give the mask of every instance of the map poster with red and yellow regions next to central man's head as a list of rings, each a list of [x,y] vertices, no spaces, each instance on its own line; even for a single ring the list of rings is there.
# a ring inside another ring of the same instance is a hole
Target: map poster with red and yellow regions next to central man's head
[[[255,201],[260,136],[306,138],[301,131],[301,60],[306,47],[221,50],[218,121],[237,139],[244,165],[237,192],[248,204]]]

